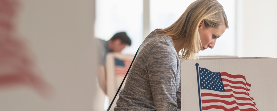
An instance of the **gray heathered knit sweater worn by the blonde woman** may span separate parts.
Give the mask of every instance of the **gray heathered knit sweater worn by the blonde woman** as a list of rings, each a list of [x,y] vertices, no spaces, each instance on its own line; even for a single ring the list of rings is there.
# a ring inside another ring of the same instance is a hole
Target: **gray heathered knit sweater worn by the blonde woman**
[[[114,111],[180,111],[179,65],[171,38],[151,32],[139,48]]]

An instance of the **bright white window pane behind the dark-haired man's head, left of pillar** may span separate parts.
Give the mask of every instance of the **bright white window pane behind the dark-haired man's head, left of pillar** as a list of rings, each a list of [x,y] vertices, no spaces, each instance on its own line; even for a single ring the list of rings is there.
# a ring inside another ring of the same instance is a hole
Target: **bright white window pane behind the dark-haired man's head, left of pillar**
[[[132,44],[122,50],[135,54],[143,42],[143,1],[96,0],[94,36],[109,40],[115,33],[125,31]]]

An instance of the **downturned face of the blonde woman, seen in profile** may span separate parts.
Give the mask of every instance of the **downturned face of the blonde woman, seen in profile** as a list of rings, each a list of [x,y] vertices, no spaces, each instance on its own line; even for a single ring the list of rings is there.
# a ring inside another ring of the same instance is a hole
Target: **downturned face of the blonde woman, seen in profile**
[[[207,28],[205,27],[204,21],[202,20],[198,26],[198,32],[203,46],[202,51],[208,47],[214,48],[216,39],[218,39],[224,33],[225,29],[225,24],[220,25],[218,28]]]

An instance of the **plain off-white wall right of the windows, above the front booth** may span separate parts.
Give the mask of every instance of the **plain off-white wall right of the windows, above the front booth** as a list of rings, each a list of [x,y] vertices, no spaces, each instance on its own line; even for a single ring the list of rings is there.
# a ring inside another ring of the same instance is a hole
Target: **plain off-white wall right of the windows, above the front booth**
[[[277,57],[276,26],[276,0],[237,0],[237,55]]]

